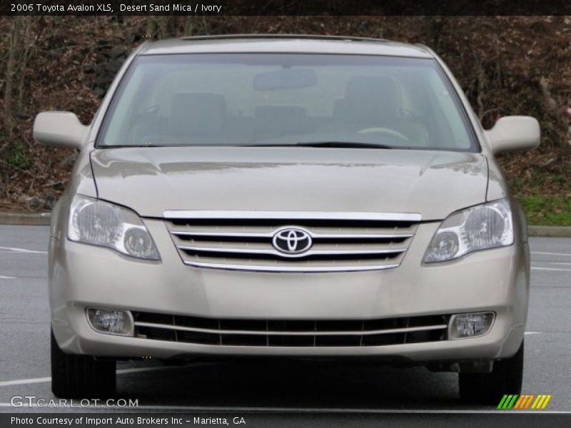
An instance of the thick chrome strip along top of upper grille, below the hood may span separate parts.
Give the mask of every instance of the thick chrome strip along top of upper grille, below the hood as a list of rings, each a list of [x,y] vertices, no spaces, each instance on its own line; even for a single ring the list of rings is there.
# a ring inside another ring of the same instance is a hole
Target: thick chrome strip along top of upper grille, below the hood
[[[420,221],[418,213],[332,213],[330,211],[207,211],[166,210],[167,220],[186,219],[271,219],[271,220],[390,220]]]

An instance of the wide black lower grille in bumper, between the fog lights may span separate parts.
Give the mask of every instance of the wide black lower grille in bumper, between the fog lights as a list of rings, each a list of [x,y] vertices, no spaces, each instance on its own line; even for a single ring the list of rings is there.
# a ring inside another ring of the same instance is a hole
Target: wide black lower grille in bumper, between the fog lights
[[[449,315],[380,320],[228,320],[133,312],[135,337],[197,345],[368,347],[447,340]]]

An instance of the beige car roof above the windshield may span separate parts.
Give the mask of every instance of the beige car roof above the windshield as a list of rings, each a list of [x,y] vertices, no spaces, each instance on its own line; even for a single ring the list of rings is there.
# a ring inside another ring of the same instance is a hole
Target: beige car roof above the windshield
[[[148,42],[139,55],[161,54],[353,54],[433,58],[422,45],[350,36],[299,34],[235,34],[193,36]]]

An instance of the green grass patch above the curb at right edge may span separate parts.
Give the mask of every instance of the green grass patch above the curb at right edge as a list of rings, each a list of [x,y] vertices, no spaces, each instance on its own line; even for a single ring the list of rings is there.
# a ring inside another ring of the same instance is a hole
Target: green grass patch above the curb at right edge
[[[530,225],[570,226],[571,198],[567,195],[516,195]]]

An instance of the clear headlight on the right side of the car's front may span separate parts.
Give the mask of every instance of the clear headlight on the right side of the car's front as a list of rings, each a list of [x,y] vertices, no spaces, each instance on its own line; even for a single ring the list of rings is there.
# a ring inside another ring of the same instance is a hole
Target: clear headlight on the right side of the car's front
[[[513,243],[513,223],[507,199],[453,213],[444,220],[428,245],[425,263],[443,262],[466,253]]]

